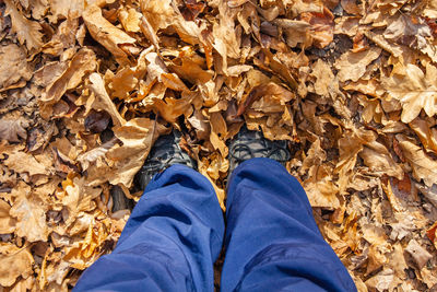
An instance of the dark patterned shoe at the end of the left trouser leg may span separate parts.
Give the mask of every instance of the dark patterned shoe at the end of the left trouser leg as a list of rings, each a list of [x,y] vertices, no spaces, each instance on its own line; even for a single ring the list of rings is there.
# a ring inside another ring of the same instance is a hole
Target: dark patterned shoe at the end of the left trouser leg
[[[160,137],[153,145],[144,165],[137,173],[133,184],[137,189],[144,190],[153,176],[174,164],[185,164],[197,170],[196,162],[180,145],[180,132],[173,130],[169,135]]]

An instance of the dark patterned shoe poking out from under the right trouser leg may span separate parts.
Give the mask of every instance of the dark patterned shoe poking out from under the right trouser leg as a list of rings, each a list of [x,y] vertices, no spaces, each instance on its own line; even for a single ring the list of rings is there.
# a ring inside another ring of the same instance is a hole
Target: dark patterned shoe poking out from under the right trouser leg
[[[229,174],[244,161],[267,157],[285,166],[291,160],[288,141],[271,141],[260,131],[249,131],[244,126],[229,144]]]

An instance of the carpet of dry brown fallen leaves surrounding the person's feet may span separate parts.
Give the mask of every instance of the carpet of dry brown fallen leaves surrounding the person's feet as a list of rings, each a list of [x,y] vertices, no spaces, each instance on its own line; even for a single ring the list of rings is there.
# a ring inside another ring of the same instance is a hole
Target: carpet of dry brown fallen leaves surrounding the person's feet
[[[243,125],[359,291],[437,291],[437,2],[4,0],[0,287],[66,291],[128,219],[114,194],[181,130],[224,208]],[[0,289],[3,291],[3,289]]]

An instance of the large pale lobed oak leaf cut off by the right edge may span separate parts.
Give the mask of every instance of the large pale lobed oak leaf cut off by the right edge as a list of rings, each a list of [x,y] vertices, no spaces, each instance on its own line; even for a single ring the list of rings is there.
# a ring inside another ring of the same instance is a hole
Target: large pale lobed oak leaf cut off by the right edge
[[[383,85],[390,97],[402,104],[403,122],[410,122],[418,116],[422,108],[432,117],[437,113],[437,68],[428,63],[426,74],[415,65],[409,63],[405,75],[394,74],[383,79]]]

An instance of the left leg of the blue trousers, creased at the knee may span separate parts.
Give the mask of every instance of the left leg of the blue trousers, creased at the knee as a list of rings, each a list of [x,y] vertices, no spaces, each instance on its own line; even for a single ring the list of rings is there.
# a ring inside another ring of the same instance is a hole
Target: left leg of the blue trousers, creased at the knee
[[[173,165],[147,185],[115,250],[91,266],[74,291],[213,291],[223,233],[210,182]]]

